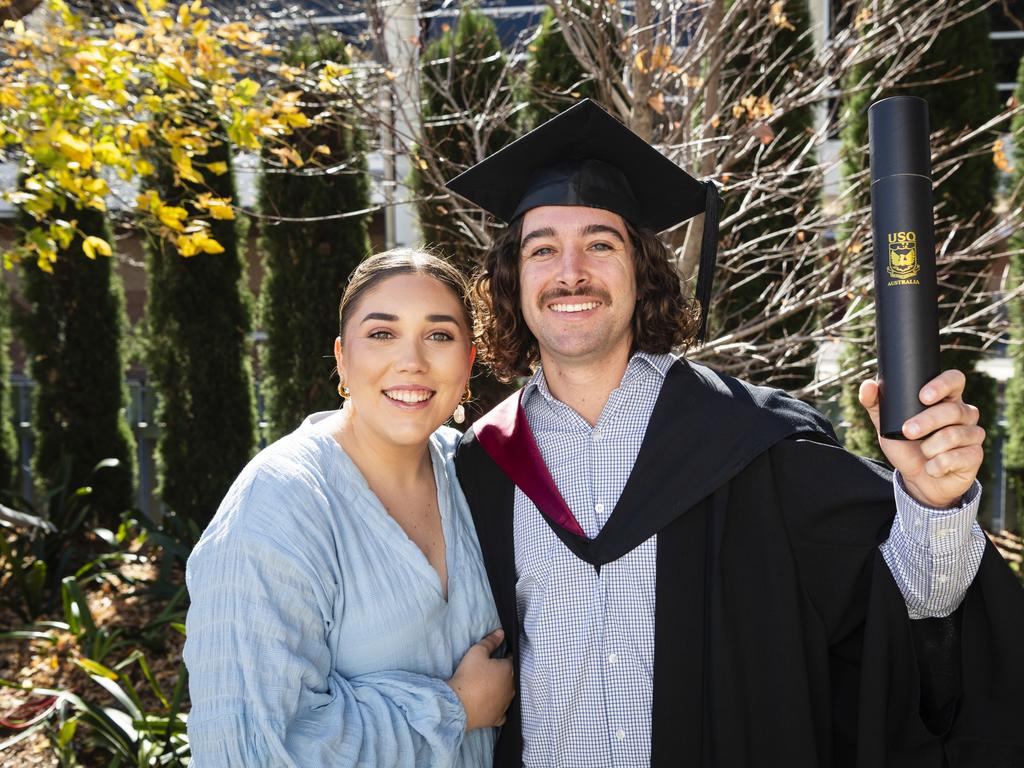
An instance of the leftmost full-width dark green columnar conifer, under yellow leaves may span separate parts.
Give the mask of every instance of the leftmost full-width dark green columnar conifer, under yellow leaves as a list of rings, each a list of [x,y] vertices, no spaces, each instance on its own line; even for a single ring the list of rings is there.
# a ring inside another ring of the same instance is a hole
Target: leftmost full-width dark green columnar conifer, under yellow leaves
[[[103,214],[63,215],[77,222],[66,258],[50,272],[30,262],[22,270],[28,306],[16,324],[35,382],[33,474],[40,488],[77,488],[97,462],[117,459],[117,467],[94,478],[91,498],[109,524],[134,500],[135,440],[124,416],[124,295],[114,258],[88,255],[89,238],[113,242]]]

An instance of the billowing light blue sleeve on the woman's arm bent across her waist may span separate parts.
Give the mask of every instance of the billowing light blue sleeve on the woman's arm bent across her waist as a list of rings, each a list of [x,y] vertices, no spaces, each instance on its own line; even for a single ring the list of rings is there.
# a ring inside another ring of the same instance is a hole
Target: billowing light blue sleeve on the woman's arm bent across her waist
[[[333,671],[324,574],[285,531],[221,531],[188,561],[195,768],[450,766],[465,711],[440,679]]]

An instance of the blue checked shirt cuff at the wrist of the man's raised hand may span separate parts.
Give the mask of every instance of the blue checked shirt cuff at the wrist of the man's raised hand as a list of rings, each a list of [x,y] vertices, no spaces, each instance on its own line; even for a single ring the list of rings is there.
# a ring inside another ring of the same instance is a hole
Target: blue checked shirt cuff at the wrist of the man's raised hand
[[[967,546],[972,539],[978,507],[981,504],[981,483],[977,480],[961,498],[956,507],[928,507],[907,492],[899,470],[893,473],[896,496],[896,520],[907,541],[934,555],[944,555]]]

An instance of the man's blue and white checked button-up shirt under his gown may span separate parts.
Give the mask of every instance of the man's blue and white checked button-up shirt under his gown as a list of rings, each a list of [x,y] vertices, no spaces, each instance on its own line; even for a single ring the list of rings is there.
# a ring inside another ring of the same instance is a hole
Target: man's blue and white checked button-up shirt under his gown
[[[542,371],[526,385],[522,404],[541,455],[590,538],[618,501],[674,362],[672,355],[635,354],[593,427],[555,399]],[[911,617],[947,615],[985,548],[975,522],[980,486],[952,510],[916,504],[898,476],[894,493],[885,561]],[[595,572],[518,488],[514,515],[525,766],[647,766],[657,537]]]

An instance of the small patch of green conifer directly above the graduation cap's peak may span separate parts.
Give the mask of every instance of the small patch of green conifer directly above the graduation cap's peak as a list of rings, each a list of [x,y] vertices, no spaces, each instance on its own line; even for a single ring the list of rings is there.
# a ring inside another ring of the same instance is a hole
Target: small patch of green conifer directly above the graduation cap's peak
[[[522,132],[550,120],[581,98],[597,97],[597,86],[569,50],[551,7],[541,15],[537,37],[529,46],[522,95],[526,101],[520,113]]]

